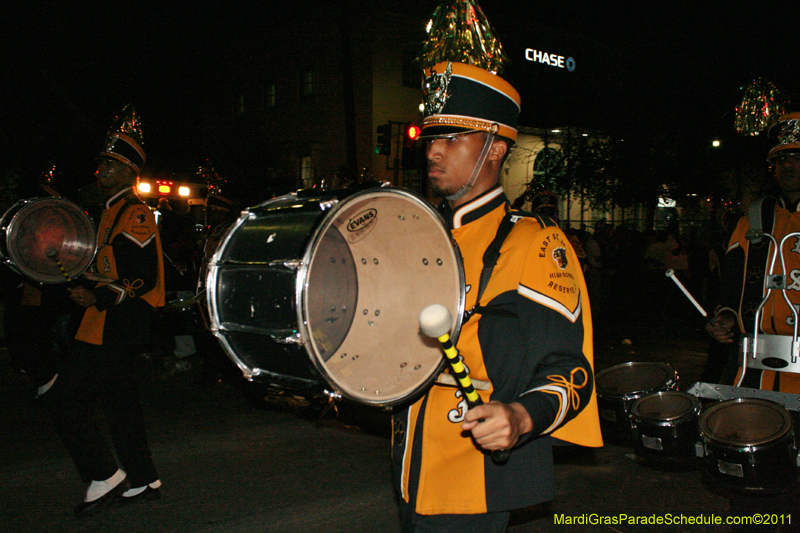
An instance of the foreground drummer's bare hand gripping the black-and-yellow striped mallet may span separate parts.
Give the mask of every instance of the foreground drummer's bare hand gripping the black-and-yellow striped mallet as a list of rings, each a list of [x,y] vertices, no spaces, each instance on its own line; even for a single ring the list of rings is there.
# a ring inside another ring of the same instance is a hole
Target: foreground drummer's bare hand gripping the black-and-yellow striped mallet
[[[533,429],[533,421],[522,404],[489,402],[467,411],[461,429],[471,431],[484,450],[508,450]]]

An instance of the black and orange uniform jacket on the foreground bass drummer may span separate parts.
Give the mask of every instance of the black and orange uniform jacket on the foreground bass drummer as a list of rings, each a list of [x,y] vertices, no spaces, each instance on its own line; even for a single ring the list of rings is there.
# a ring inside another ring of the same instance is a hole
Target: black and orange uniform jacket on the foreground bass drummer
[[[484,251],[508,209],[499,186],[455,212],[445,209],[463,257],[467,309],[478,303]],[[552,437],[602,446],[586,284],[567,236],[547,223],[516,219],[481,297],[489,309],[464,323],[457,342],[471,377],[491,384],[478,391],[483,401],[522,404],[534,429],[506,463],[496,464],[461,431],[467,408],[461,392],[434,384],[394,418],[395,481],[419,514],[485,513],[551,500]]]

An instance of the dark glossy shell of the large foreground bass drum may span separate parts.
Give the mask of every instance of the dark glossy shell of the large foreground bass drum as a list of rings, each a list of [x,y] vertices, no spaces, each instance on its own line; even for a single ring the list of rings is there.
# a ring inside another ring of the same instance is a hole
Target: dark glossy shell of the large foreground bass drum
[[[338,198],[331,195],[323,200]],[[251,208],[222,235],[208,265],[210,329],[246,378],[299,394],[322,396],[325,382],[306,357],[299,335],[295,293],[296,263],[324,212],[307,200],[294,198],[294,203],[302,207],[288,213],[282,198]],[[272,226],[253,223],[254,219],[268,220],[270,215],[277,219]],[[280,238],[272,239],[268,254],[255,245],[269,241],[277,229]],[[250,319],[233,308],[236,294],[223,294],[225,286],[252,292],[251,307],[256,312]],[[228,318],[231,313],[236,313],[235,318]],[[226,327],[228,321],[237,328]]]

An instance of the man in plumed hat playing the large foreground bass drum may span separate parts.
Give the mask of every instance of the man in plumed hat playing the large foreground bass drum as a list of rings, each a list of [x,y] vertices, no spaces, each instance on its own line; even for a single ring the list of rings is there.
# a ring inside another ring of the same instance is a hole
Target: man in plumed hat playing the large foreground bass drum
[[[440,63],[424,86],[422,139],[432,191],[464,260],[457,348],[484,405],[434,384],[393,420],[404,532],[502,532],[510,511],[554,496],[557,437],[601,446],[586,285],[564,233],[545,217],[507,216],[500,169],[517,137],[519,95],[476,66]],[[505,234],[507,231],[507,234]],[[499,258],[486,269],[495,242]],[[489,282],[481,287],[481,273]],[[480,307],[477,307],[480,306]],[[506,450],[494,462],[492,450]]]

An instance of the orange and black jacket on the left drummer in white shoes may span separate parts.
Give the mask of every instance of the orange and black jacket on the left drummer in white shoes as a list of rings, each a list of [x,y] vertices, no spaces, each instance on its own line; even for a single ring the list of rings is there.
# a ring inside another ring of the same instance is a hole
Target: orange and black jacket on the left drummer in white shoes
[[[126,188],[105,205],[97,228],[96,305],[84,312],[76,340],[147,344],[153,310],[164,305],[164,264],[156,219]]]

